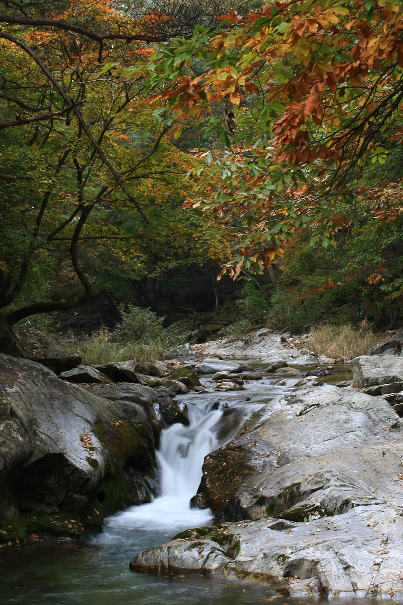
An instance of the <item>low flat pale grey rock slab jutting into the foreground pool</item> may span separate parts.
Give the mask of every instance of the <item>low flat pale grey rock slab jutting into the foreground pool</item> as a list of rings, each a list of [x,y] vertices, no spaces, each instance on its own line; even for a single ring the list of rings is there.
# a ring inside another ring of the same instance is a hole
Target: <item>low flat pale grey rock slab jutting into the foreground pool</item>
[[[190,530],[137,555],[130,566],[161,575],[249,575],[290,595],[401,600],[402,512],[390,505],[357,506],[308,523],[266,518]]]

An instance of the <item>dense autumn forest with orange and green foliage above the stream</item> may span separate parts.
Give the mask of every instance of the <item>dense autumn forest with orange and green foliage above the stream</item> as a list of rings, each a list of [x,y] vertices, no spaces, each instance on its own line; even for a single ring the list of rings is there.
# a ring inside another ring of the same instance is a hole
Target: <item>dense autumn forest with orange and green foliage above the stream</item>
[[[400,4],[0,13],[3,322],[77,336],[131,303],[204,341],[400,321]]]

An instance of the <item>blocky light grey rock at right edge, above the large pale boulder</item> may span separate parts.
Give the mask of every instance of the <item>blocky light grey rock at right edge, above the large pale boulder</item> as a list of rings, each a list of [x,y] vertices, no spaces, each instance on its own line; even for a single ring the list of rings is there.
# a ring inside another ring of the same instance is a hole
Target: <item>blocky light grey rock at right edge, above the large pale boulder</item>
[[[357,387],[403,381],[403,359],[395,355],[363,355],[353,360],[353,379]]]

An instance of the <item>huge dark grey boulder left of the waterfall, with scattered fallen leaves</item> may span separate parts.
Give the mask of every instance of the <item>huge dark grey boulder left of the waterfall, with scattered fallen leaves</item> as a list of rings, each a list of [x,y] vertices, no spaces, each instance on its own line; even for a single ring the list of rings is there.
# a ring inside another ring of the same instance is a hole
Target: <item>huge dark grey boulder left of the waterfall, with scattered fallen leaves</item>
[[[141,459],[141,468],[152,470],[152,436],[145,439],[89,385],[67,384],[40,364],[0,355],[0,391],[0,510],[15,502],[82,506],[127,461]]]

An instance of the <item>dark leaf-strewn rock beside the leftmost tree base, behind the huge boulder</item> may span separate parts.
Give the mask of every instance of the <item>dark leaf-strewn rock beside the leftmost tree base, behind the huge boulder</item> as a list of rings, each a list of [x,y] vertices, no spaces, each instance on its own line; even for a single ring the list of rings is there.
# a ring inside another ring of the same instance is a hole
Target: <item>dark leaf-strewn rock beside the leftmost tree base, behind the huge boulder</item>
[[[14,325],[13,330],[21,342],[24,356],[31,359],[31,361],[37,361],[51,368],[56,374],[61,374],[80,365],[80,355],[54,341],[43,332],[33,330],[25,325]]]

